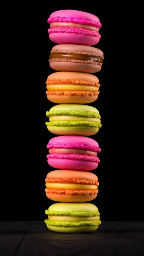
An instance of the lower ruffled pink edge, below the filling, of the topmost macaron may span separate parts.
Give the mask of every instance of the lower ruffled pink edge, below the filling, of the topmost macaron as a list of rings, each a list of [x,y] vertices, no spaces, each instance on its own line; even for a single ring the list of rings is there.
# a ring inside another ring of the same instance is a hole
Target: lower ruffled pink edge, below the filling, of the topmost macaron
[[[87,36],[94,36],[97,38],[101,38],[101,35],[92,30],[88,29],[79,29],[79,28],[73,28],[73,27],[53,27],[48,29],[49,34],[51,33],[73,33],[73,34],[79,34],[79,35],[87,35]]]

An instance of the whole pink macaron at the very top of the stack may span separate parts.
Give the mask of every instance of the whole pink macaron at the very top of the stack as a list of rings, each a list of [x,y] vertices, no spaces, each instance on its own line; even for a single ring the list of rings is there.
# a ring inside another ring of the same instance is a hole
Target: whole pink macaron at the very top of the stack
[[[60,10],[49,19],[49,38],[56,44],[97,44],[101,38],[98,17],[88,12]]]

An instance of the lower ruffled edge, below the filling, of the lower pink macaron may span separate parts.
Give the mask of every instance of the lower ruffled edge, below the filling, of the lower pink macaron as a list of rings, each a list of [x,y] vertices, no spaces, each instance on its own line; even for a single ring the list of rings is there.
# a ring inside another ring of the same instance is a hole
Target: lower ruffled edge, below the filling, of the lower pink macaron
[[[81,155],[81,154],[58,154],[51,153],[46,156],[47,158],[55,158],[55,159],[67,159],[67,160],[80,160],[80,161],[89,161],[99,163],[100,160],[98,157]]]

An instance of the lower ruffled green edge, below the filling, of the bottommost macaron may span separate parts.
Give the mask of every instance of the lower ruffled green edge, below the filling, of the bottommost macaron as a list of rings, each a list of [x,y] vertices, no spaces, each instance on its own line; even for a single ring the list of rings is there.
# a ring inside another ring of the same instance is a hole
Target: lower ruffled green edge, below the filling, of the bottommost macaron
[[[50,221],[45,220],[46,224],[55,227],[90,227],[98,226],[101,224],[101,221]]]

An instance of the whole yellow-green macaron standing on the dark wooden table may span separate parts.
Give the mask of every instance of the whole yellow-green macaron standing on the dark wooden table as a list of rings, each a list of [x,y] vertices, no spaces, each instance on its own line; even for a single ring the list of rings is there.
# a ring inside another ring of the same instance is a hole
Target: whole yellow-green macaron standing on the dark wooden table
[[[60,233],[87,233],[98,229],[100,213],[94,204],[56,203],[45,211],[49,230]]]

